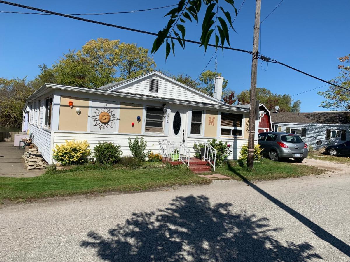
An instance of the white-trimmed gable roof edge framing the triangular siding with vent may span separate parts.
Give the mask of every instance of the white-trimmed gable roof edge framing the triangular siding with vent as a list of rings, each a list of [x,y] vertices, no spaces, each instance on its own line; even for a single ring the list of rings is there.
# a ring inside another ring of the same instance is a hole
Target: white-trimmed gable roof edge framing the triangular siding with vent
[[[160,73],[160,72],[158,72],[158,71],[156,71],[156,70],[153,70],[152,72],[149,72],[149,73],[144,74],[144,75],[140,75],[139,77],[134,77],[134,78],[126,79],[126,80],[122,80],[122,81],[119,81],[119,82],[109,83],[109,84],[104,85],[104,86],[102,86],[102,87],[99,87],[99,88],[97,88],[97,89],[100,89],[100,90],[102,89],[102,90],[109,90],[109,91],[118,92],[118,89],[120,89],[120,88],[123,87],[123,86],[129,85],[130,83],[139,81],[139,80],[141,80],[141,79],[147,79],[147,78],[149,78],[149,77],[151,77],[151,76],[153,76],[153,75],[155,75],[155,76],[157,76],[157,77],[160,77],[160,78],[163,78],[163,79],[165,79],[165,80],[167,80],[167,81],[169,81],[169,82],[172,82],[172,83],[174,83],[175,85],[178,85],[178,86],[180,86],[180,87],[182,87],[182,88],[184,88],[184,89],[187,89],[187,90],[189,90],[190,92],[193,92],[193,93],[195,93],[195,94],[197,94],[197,95],[203,96],[203,97],[205,97],[206,99],[209,99],[209,100],[211,100],[211,101],[214,101],[214,102],[216,102],[216,103],[218,103],[218,104],[225,104],[225,105],[226,105],[225,102],[223,102],[223,101],[221,101],[221,100],[218,100],[218,99],[216,99],[215,97],[212,97],[212,96],[210,96],[210,95],[204,94],[204,93],[202,93],[202,92],[200,92],[200,91],[198,91],[198,90],[196,90],[196,89],[194,89],[194,88],[192,88],[192,87],[189,87],[189,86],[187,86],[187,85],[185,85],[185,84],[183,84],[183,83],[181,83],[181,82],[179,82],[179,81],[177,81],[177,80],[175,80],[175,79],[173,79],[173,78],[171,78],[171,77],[168,77],[167,75],[162,74],[162,73]],[[235,105],[234,105],[234,106],[235,106]]]

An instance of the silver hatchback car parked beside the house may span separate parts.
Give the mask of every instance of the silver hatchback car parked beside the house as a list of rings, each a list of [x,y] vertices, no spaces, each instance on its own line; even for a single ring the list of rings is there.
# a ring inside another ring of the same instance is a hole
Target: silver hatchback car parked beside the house
[[[258,135],[258,144],[262,153],[272,161],[280,158],[294,158],[302,162],[309,153],[307,144],[300,136],[282,132],[264,132]]]

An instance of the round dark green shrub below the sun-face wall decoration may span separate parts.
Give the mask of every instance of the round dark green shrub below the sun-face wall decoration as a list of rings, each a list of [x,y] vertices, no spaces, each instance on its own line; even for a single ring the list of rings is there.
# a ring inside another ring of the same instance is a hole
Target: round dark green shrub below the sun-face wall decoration
[[[122,154],[120,145],[114,145],[110,142],[98,142],[97,146],[95,146],[94,158],[97,163],[115,165],[121,159]]]

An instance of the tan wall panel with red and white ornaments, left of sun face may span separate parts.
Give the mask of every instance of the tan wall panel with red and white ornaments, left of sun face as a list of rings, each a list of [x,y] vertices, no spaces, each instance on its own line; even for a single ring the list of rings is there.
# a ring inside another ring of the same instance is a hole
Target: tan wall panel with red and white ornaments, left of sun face
[[[70,108],[68,101],[73,102]],[[78,115],[75,109],[80,108]],[[61,96],[59,106],[58,130],[62,131],[87,131],[87,115],[89,114],[89,99]]]

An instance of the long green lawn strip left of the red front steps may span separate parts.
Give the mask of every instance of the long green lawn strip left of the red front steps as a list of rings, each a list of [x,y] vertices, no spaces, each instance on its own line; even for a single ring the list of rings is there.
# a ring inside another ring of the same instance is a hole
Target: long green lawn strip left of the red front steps
[[[144,168],[126,169],[84,165],[69,170],[48,170],[37,177],[0,177],[0,201],[202,183],[210,181],[193,174],[185,166],[160,167],[159,163],[147,163]]]

